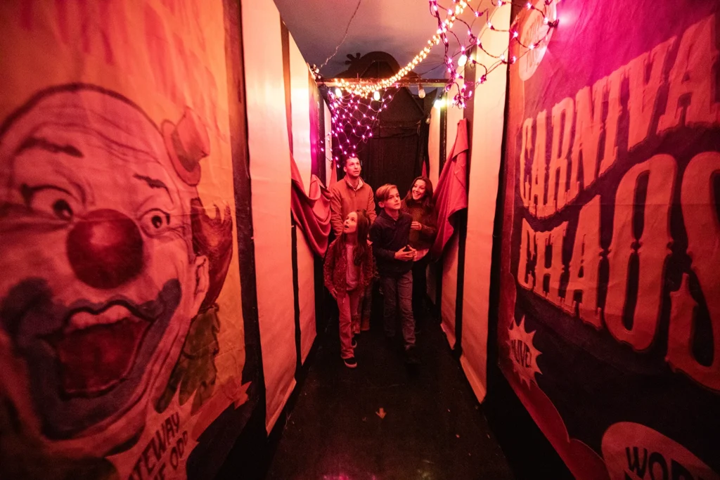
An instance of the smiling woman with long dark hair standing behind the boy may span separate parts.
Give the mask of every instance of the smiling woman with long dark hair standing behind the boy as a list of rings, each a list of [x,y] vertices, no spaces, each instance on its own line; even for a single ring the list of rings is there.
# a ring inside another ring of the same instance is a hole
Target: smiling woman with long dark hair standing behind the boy
[[[410,246],[417,250],[413,264],[413,316],[415,331],[425,315],[425,297],[428,291],[426,271],[430,263],[430,248],[438,232],[433,203],[433,183],[430,178],[419,176],[413,180],[413,186],[402,200],[402,210],[413,217],[410,227]]]

